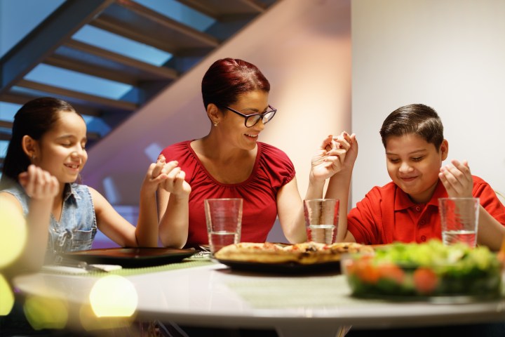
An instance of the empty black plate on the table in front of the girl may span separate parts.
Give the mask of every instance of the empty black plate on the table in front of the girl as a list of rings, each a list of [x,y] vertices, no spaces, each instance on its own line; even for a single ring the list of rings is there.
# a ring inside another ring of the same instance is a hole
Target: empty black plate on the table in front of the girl
[[[72,251],[62,254],[64,258],[86,261],[89,264],[121,265],[123,267],[150,267],[180,262],[192,256],[194,249],[170,248],[106,248],[87,251]]]

